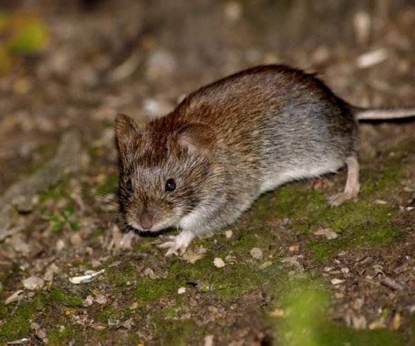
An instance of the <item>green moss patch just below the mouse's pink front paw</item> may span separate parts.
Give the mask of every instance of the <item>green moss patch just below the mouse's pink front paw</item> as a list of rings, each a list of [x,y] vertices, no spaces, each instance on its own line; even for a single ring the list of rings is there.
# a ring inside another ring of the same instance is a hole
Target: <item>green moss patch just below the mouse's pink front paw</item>
[[[259,233],[261,231],[259,230]],[[264,234],[270,235],[271,233],[264,231]],[[264,240],[266,237],[255,237],[254,232],[243,233],[239,239],[234,239],[232,242],[221,235],[215,237],[222,248],[220,253],[208,252],[194,264],[171,257],[171,262],[168,264],[169,273],[162,281],[140,277],[133,291],[133,300],[138,302],[138,308],[145,309],[147,304],[160,298],[173,300],[175,307],[179,307],[181,298],[177,295],[177,290],[181,286],[186,286],[187,282],[197,282],[199,292],[214,293],[223,300],[237,298],[248,293],[250,289],[256,288],[261,280],[264,280],[264,275],[259,269],[252,270],[252,264],[241,259],[246,256],[250,258],[249,251],[254,246],[264,248],[266,251],[266,240]],[[194,246],[198,244],[203,244],[205,247],[212,246],[214,239],[199,240]],[[228,263],[224,268],[216,268],[214,257],[225,259],[228,254],[237,258],[234,264]],[[136,270],[134,269],[133,272],[136,273]],[[111,281],[119,284],[118,280],[122,279],[116,277],[117,273],[114,275]]]

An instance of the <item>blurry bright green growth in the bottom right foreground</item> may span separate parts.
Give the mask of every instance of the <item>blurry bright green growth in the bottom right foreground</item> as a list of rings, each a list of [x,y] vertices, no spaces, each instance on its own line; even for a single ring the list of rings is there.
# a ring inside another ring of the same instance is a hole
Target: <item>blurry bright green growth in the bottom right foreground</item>
[[[277,294],[277,304],[273,304],[285,316],[270,318],[275,338],[283,345],[406,345],[394,331],[356,330],[332,322],[327,313],[331,303],[324,285],[309,277],[284,286],[285,293]]]

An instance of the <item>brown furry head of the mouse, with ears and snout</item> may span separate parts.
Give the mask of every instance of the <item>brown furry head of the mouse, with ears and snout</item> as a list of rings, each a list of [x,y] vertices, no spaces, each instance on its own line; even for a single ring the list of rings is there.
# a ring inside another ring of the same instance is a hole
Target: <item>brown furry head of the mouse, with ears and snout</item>
[[[215,174],[215,136],[208,125],[183,125],[174,116],[140,127],[119,114],[120,207],[138,230],[174,227],[209,194]]]

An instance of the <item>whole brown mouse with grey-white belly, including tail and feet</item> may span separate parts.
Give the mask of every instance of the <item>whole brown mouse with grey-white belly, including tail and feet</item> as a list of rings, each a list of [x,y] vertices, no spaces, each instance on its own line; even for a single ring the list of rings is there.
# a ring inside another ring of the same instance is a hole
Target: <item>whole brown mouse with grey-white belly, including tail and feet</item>
[[[184,253],[194,237],[232,224],[264,192],[347,166],[333,207],[358,196],[358,121],[405,118],[413,108],[360,108],[315,74],[256,66],[212,82],[140,125],[115,119],[119,201],[138,232],[177,228],[160,248]]]

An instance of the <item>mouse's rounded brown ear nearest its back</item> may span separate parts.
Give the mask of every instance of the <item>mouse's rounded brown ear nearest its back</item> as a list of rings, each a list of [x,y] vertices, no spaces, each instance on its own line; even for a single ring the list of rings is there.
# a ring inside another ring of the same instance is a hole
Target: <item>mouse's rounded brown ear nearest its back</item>
[[[177,143],[188,156],[196,152],[209,152],[214,146],[214,132],[208,125],[190,124],[177,132]]]

